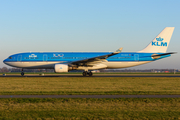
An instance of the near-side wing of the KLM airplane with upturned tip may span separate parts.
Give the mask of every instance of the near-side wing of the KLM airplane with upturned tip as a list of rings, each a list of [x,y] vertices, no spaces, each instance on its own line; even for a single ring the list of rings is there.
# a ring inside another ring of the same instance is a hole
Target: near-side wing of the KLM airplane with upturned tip
[[[71,62],[70,64],[73,64],[73,65],[87,65],[88,63],[102,62],[103,60],[106,60],[110,56],[113,56],[113,55],[116,55],[118,53],[121,53],[122,49],[123,48],[119,48],[115,52],[107,54],[107,55],[92,57],[92,58],[83,59],[83,60],[78,60],[78,61]]]

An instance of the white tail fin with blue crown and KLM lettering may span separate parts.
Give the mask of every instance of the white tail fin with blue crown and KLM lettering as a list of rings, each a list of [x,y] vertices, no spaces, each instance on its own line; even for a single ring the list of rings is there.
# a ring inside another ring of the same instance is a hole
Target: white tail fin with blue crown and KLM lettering
[[[139,52],[165,53],[171,40],[174,27],[166,27],[154,40]]]

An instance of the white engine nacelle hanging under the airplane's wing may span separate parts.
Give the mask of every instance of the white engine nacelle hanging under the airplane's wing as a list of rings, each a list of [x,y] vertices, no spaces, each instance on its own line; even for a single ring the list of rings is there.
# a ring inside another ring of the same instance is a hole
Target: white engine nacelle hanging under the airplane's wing
[[[68,65],[67,64],[55,64],[54,72],[56,72],[56,73],[68,72]]]

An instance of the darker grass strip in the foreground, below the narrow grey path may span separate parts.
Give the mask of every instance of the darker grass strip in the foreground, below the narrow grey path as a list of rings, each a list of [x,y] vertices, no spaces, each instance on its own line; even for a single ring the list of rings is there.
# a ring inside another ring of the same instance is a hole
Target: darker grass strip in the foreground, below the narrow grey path
[[[0,119],[179,119],[180,98],[0,99]]]

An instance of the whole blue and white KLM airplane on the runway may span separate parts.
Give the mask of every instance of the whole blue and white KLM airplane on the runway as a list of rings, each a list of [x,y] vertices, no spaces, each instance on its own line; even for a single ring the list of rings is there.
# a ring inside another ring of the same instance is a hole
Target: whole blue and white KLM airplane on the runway
[[[55,73],[83,70],[83,76],[92,76],[93,70],[119,69],[150,63],[170,57],[166,53],[174,27],[166,27],[147,47],[138,52],[25,52],[9,56],[6,65],[23,69],[54,69]]]

